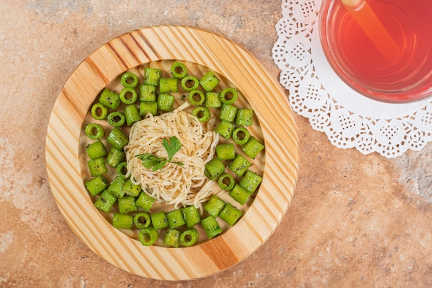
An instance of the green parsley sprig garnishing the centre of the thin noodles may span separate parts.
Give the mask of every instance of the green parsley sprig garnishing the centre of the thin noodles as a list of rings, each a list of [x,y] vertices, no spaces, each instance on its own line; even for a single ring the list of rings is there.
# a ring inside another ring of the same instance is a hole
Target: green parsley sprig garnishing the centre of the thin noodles
[[[170,142],[168,142],[166,139],[162,140],[162,145],[164,145],[166,152],[168,153],[168,160],[156,157],[151,153],[139,154],[135,155],[134,157],[141,159],[143,166],[147,169],[152,169],[153,172],[162,170],[162,168],[164,168],[165,164],[168,162],[177,164],[179,166],[184,166],[184,164],[181,162],[171,161],[175,153],[177,153],[181,148],[181,142],[177,137],[170,137]]]

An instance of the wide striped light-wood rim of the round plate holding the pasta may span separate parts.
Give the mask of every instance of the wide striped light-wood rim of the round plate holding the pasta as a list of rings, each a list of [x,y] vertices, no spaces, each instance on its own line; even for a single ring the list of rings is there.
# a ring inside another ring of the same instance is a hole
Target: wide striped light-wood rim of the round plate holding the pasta
[[[169,59],[205,66],[233,83],[254,109],[266,145],[263,180],[251,207],[221,236],[187,248],[145,247],[114,229],[92,204],[80,163],[82,126],[100,91],[130,68]],[[161,280],[210,276],[256,251],[275,231],[293,198],[298,158],[293,113],[277,80],[229,39],[184,26],[135,30],[93,52],[63,86],[46,139],[52,194],[70,229],[112,265]]]

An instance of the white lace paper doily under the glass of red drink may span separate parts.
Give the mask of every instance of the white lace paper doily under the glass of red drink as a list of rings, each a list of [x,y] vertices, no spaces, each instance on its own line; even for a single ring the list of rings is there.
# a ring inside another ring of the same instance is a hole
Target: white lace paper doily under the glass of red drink
[[[364,97],[333,72],[317,27],[321,0],[282,0],[273,59],[293,111],[339,148],[397,157],[432,140],[432,99],[389,104]]]

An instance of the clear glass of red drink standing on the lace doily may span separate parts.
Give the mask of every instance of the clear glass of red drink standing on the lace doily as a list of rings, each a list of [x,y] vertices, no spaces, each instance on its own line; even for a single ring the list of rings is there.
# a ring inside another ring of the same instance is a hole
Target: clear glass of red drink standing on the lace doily
[[[320,8],[322,48],[335,73],[378,101],[431,97],[432,0],[357,2],[323,0]]]

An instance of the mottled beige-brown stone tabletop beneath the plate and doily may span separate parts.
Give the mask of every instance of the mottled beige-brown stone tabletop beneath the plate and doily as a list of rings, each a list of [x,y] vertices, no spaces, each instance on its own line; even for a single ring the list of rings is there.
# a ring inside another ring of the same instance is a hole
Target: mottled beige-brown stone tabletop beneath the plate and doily
[[[199,280],[112,267],[61,217],[44,155],[50,110],[70,73],[113,37],[143,26],[206,28],[271,48],[281,1],[2,1],[0,287],[432,287],[432,144],[387,160],[332,146],[296,115],[300,177],[282,224],[252,256]]]

